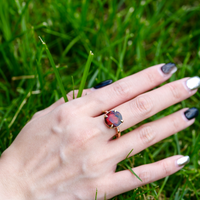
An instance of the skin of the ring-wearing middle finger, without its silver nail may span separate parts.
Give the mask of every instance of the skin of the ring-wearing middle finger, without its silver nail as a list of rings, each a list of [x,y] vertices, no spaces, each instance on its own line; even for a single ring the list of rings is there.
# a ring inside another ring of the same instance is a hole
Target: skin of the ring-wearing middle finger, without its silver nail
[[[192,96],[196,90],[187,88],[187,80],[188,78],[184,78],[168,83],[114,108],[122,114],[124,120],[124,123],[120,125],[120,130],[126,130],[157,112]],[[103,122],[103,116],[97,118],[99,122]],[[106,125],[101,128],[102,132],[106,134],[105,139],[110,139],[116,134],[116,130],[109,130]]]

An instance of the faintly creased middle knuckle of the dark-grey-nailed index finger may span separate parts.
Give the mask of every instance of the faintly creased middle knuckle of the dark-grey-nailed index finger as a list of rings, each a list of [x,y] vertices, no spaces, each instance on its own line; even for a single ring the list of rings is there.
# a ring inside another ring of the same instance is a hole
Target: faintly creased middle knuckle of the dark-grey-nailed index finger
[[[130,87],[124,81],[118,81],[113,84],[114,93],[122,98],[130,95]]]

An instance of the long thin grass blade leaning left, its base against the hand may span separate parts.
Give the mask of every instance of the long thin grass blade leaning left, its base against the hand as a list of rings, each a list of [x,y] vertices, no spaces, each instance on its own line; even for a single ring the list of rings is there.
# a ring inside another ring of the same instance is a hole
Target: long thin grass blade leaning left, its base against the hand
[[[54,70],[54,73],[55,73],[55,75],[56,75],[56,79],[57,79],[57,81],[58,81],[58,85],[59,85],[59,87],[60,87],[62,96],[63,96],[65,102],[68,102],[68,98],[67,98],[67,95],[66,95],[64,86],[63,86],[63,84],[62,84],[62,81],[61,81],[59,72],[58,72],[58,70],[57,70],[57,68],[56,68],[56,65],[55,65],[54,60],[53,60],[53,58],[52,58],[52,55],[51,55],[51,53],[50,53],[50,51],[49,51],[49,48],[47,47],[46,43],[42,40],[42,38],[41,38],[40,36],[39,36],[39,38],[40,38],[42,44],[44,45],[44,48],[45,48],[45,50],[46,50],[46,53],[47,53],[47,56],[48,56],[49,61],[50,61],[50,63],[51,63],[51,66],[53,67],[53,70]]]

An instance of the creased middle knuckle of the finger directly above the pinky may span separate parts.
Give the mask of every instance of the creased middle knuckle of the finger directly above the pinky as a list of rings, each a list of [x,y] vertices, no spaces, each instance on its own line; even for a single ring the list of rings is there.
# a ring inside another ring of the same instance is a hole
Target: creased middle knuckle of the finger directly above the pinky
[[[139,138],[144,145],[150,144],[155,136],[155,130],[151,126],[142,126],[139,130]]]

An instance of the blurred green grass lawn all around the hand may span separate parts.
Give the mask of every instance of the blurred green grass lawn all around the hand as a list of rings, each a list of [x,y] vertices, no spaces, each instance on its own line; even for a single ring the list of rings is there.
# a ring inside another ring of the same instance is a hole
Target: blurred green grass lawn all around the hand
[[[94,58],[86,87],[163,62],[178,66],[170,81],[200,75],[199,19],[198,0],[1,0],[0,153],[36,111],[62,96],[38,36],[47,43],[67,93],[79,88],[90,50]],[[198,92],[146,121],[183,107],[200,108],[199,99]],[[113,199],[200,199],[199,131],[198,117],[186,130],[120,163],[118,170],[175,154],[191,157],[180,172]]]

